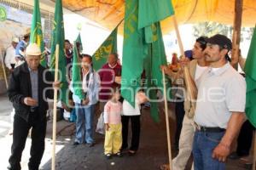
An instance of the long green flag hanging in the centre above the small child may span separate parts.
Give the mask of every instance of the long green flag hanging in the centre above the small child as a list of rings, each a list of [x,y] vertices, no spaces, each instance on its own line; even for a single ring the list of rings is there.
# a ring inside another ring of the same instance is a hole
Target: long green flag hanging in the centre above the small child
[[[138,0],[126,1],[121,94],[133,106],[135,93],[140,88],[144,59],[148,54],[143,29],[137,29],[137,25]]]

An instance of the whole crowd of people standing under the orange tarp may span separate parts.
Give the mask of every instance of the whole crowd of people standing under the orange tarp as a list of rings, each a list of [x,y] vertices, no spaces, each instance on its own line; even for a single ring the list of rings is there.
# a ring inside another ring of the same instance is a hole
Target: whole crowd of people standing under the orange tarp
[[[44,154],[49,99],[53,91],[46,88],[60,88],[60,82],[54,82],[49,71],[40,65],[44,52],[37,44],[29,44],[29,31],[19,42],[13,38],[6,49],[5,65],[11,74],[8,89],[9,99],[15,107],[13,144],[9,157],[9,169],[19,170],[22,151],[26,144],[28,131],[32,128],[31,158],[28,167],[38,169]],[[232,43],[228,37],[217,34],[212,37],[198,37],[188,58],[178,59],[173,54],[170,65],[160,65],[172,82],[173,100],[177,117],[175,144],[178,154],[173,159],[174,170],[183,170],[189,157],[193,156],[192,169],[225,169],[225,161],[231,152],[231,144],[239,135],[237,150],[230,158],[248,156],[253,138],[253,126],[246,121],[245,99],[246,82],[244,77],[230,65],[229,52]],[[120,94],[121,71],[118,54],[109,54],[108,62],[102,70],[95,71],[90,54],[79,53],[81,65],[81,90],[83,99],[75,93],[72,80],[73,48],[65,40],[65,57],[68,68],[69,104],[62,105],[65,110],[73,106],[76,116],[76,133],[73,144],[86,144],[93,147],[94,119],[96,105],[103,114],[105,126],[104,155],[122,156],[124,150],[133,156],[140,143],[141,105],[148,102],[143,90],[137,92],[133,107]],[[49,58],[47,57],[49,63]],[[241,68],[244,59],[239,58]],[[189,74],[198,90],[196,101],[189,100],[186,93],[183,68],[189,68]],[[44,72],[47,72],[46,76]],[[44,80],[46,77],[47,81]],[[185,92],[185,93],[184,93]],[[193,107],[195,103],[195,108]],[[131,144],[128,144],[128,129],[131,120]],[[240,132],[241,129],[241,132]],[[240,133],[239,133],[240,132]],[[244,139],[247,140],[244,140]],[[168,166],[167,166],[168,167]],[[166,168],[167,167],[161,167]]]

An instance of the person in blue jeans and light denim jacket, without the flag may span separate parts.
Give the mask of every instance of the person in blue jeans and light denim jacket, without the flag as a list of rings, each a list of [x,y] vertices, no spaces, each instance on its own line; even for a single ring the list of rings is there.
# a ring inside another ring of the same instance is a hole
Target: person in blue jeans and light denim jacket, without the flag
[[[71,91],[73,92],[73,102],[75,103],[75,111],[77,115],[76,121],[76,138],[74,145],[86,143],[92,147],[94,145],[93,139],[93,118],[96,102],[98,101],[98,94],[100,88],[100,78],[98,74],[93,71],[92,58],[88,54],[82,54],[82,82],[71,82]],[[75,94],[73,89],[74,83],[82,84],[82,91],[84,92],[84,99],[80,99]]]

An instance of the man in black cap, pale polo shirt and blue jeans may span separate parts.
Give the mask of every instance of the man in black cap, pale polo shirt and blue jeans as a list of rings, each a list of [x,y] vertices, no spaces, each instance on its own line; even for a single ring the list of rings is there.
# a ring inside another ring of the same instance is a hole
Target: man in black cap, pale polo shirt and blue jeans
[[[210,67],[196,81],[195,170],[225,169],[230,145],[245,119],[246,82],[230,65],[231,48],[230,39],[223,35],[207,40],[205,57]]]

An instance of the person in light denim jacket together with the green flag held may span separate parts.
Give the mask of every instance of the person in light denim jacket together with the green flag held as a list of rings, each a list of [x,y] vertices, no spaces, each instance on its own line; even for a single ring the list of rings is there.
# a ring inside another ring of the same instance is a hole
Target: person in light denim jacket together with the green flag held
[[[96,71],[93,70],[91,56],[89,54],[82,54],[82,62],[79,64],[79,53],[76,43],[74,43],[73,51],[70,90],[73,93],[73,102],[75,103],[77,115],[76,137],[73,144],[86,143],[89,147],[92,147],[94,145],[94,110],[98,101],[100,78]]]

